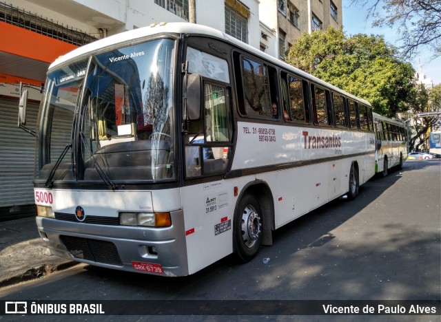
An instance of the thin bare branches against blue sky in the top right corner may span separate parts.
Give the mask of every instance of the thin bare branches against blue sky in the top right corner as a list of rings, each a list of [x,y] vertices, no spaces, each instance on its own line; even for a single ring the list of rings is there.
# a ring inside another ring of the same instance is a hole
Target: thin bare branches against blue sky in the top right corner
[[[396,28],[405,57],[411,57],[422,47],[433,50],[433,58],[441,56],[441,1],[440,0],[353,0],[368,8],[373,25]],[[386,13],[379,14],[379,7]]]

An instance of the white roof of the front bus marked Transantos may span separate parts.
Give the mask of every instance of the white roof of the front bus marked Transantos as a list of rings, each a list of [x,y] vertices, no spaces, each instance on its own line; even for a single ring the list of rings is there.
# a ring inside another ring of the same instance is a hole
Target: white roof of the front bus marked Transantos
[[[75,50],[72,50],[72,52],[68,52],[63,56],[60,56],[50,65],[49,69],[56,68],[59,65],[64,65],[74,58],[90,54],[91,52],[95,52],[97,50],[102,50],[105,47],[114,46],[119,43],[124,43],[131,40],[141,39],[147,36],[152,36],[154,34],[194,34],[211,36],[217,39],[221,39],[223,41],[232,43],[233,45],[236,45],[237,47],[240,47],[244,50],[247,50],[248,52],[252,52],[252,54],[260,56],[261,58],[270,61],[274,65],[279,65],[280,67],[291,70],[293,73],[298,74],[298,76],[307,78],[310,81],[314,81],[319,85],[332,89],[334,92],[340,92],[340,94],[344,94],[345,96],[352,98],[353,100],[358,100],[360,103],[371,106],[371,104],[367,100],[363,100],[361,98],[353,96],[352,94],[349,94],[348,92],[345,92],[334,85],[322,81],[320,78],[316,78],[315,76],[312,76],[307,72],[303,72],[302,70],[292,65],[280,61],[280,59],[278,58],[274,58],[273,56],[266,54],[265,52],[261,52],[251,45],[243,43],[242,41],[235,39],[233,36],[225,34],[225,32],[221,32],[220,30],[207,27],[205,25],[198,25],[196,23],[158,23],[152,24],[147,27],[114,34],[113,36],[108,36],[104,39],[100,39],[98,41],[94,41],[93,43],[88,43],[87,45],[78,47]]]

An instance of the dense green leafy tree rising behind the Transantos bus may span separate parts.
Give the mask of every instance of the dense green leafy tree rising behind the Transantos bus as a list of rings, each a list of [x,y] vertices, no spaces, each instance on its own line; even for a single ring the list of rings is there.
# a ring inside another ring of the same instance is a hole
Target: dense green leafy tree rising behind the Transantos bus
[[[287,63],[323,81],[364,98],[373,110],[384,116],[407,111],[416,96],[409,63],[397,58],[396,48],[382,36],[356,34],[345,36],[342,30],[305,34],[289,49]]]

